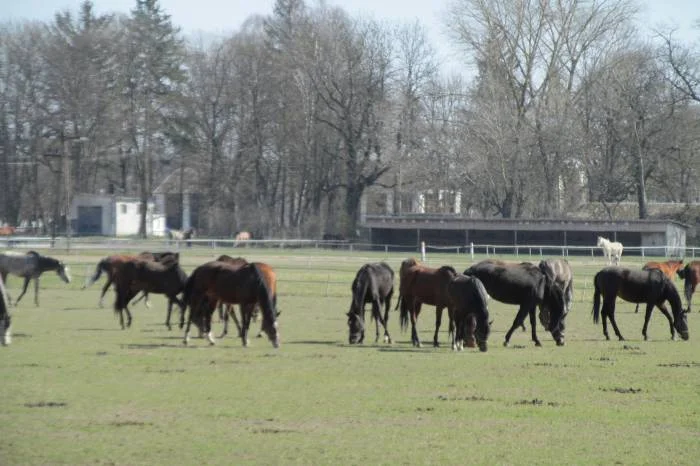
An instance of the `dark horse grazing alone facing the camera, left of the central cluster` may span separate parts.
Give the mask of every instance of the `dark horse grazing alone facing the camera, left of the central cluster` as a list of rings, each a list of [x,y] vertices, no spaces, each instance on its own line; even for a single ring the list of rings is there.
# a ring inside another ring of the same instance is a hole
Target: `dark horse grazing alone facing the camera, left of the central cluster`
[[[365,304],[372,304],[372,318],[375,321],[376,337],[379,341],[379,324],[384,327],[384,342],[391,344],[389,309],[394,294],[394,271],[385,262],[365,264],[355,274],[351,286],[352,301],[348,311],[349,343],[362,343],[365,339]],[[384,317],[382,317],[384,306]]]

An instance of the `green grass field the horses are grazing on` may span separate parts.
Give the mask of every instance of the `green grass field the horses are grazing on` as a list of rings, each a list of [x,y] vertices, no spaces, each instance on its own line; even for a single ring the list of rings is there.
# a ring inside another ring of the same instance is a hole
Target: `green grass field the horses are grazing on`
[[[219,253],[183,253],[189,272]],[[700,336],[671,341],[655,312],[618,303],[627,341],[605,341],[591,319],[591,281],[601,258],[572,258],[574,308],[567,344],[540,327],[502,346],[513,306],[490,302],[489,351],[347,345],[349,288],[364,262],[404,255],[329,251],[244,251],[280,280],[282,346],[249,348],[229,337],[182,344],[163,325],[165,300],[132,307],[119,329],[100,284],[80,290],[102,252],[61,257],[74,281],[42,277],[40,306],[27,294],[14,311],[14,339],[0,348],[0,465],[230,464],[697,464],[700,458]],[[60,256],[58,256],[60,257]],[[523,258],[521,258],[523,259]],[[463,270],[468,256],[430,263]],[[640,262],[623,258],[623,265]],[[89,269],[88,269],[89,267]],[[9,279],[17,296],[20,282]],[[680,286],[680,283],[678,283]],[[112,301],[113,293],[109,292]],[[697,308],[697,306],[696,306]],[[435,313],[424,308],[421,339]],[[446,320],[446,319],[445,319]],[[216,332],[221,328],[215,324]],[[529,329],[528,329],[529,330]],[[369,332],[373,335],[372,330]]]

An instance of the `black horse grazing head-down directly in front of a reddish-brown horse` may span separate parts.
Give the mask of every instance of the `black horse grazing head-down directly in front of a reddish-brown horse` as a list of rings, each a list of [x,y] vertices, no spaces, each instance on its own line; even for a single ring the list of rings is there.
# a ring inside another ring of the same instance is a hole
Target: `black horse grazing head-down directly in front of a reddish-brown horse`
[[[461,351],[465,341],[473,348],[476,339],[479,351],[487,351],[491,323],[484,284],[476,277],[459,274],[447,285],[447,294],[452,302],[455,324],[452,349]]]

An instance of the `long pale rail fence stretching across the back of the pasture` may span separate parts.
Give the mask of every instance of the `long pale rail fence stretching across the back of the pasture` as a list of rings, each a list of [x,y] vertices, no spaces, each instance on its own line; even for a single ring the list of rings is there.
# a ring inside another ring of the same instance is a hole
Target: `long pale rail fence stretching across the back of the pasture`
[[[70,251],[90,249],[231,249],[231,248],[266,248],[266,249],[337,249],[345,251],[376,251],[376,252],[407,252],[420,253],[420,245],[405,244],[371,244],[349,241],[323,241],[314,239],[265,239],[236,241],[231,238],[194,238],[190,240],[169,240],[163,238],[81,238],[48,236],[10,236],[0,238],[0,247],[18,249],[56,249]],[[564,245],[499,245],[499,244],[467,244],[467,245],[425,245],[429,253],[467,254],[500,256],[515,255],[523,257],[545,256],[602,256],[602,251],[595,245],[564,246]],[[625,247],[625,256],[640,257],[700,257],[700,247],[680,247],[670,245],[658,246],[629,246]]]

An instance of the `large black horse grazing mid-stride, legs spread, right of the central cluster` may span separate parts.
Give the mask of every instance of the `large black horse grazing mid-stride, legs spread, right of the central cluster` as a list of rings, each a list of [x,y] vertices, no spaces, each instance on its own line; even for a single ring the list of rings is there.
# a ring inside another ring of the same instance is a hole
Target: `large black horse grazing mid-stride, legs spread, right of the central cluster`
[[[542,346],[537,338],[535,308],[549,316],[545,328],[552,334],[557,346],[564,345],[563,318],[566,304],[562,289],[540,268],[529,262],[503,262],[487,259],[472,265],[464,275],[477,277],[483,283],[488,294],[497,301],[506,304],[518,304],[520,307],[513,320],[513,325],[506,333],[503,346],[508,346],[510,337],[516,328],[523,325],[526,316],[530,316],[532,341],[535,346]]]

